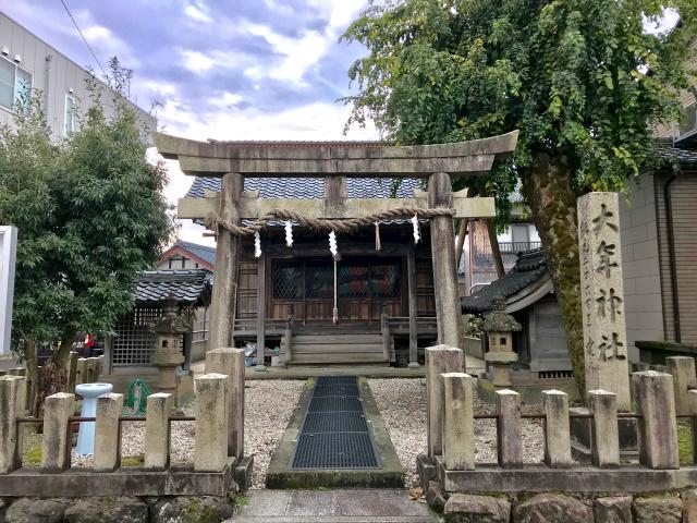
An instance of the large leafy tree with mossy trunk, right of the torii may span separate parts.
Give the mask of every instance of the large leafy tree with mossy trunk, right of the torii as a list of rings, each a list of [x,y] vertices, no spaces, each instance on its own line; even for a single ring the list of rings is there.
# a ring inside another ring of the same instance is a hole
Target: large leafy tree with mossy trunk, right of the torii
[[[505,211],[517,181],[540,233],[583,390],[576,197],[626,191],[657,158],[656,122],[680,118],[677,89],[697,4],[652,0],[386,0],[344,35],[369,53],[350,70],[351,123],[398,144],[521,131],[514,158],[470,181]],[[664,9],[681,24],[648,34]]]

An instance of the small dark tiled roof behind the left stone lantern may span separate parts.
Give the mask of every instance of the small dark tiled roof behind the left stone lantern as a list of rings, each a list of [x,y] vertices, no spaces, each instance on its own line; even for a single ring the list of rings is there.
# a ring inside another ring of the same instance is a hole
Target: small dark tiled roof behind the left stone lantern
[[[136,302],[155,304],[173,296],[179,303],[208,304],[211,283],[211,273],[205,269],[148,270],[138,278]]]

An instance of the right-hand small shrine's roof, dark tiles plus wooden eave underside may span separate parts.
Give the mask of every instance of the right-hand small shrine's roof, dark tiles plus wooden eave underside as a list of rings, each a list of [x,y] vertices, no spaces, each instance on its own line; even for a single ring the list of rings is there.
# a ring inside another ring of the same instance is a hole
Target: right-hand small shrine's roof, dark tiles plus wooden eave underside
[[[519,311],[551,292],[547,260],[541,248],[517,254],[515,266],[503,277],[481,288],[470,296],[461,299],[464,314],[482,314],[491,309],[493,300],[506,301],[506,312]],[[533,297],[530,302],[529,297]]]

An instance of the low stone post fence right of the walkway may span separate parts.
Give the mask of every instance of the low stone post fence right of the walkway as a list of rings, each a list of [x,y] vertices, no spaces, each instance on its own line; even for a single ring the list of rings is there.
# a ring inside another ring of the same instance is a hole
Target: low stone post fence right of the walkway
[[[549,390],[542,394],[542,412],[524,415],[521,396],[504,389],[496,392],[494,414],[476,414],[475,378],[462,373],[463,351],[439,345],[427,349],[426,354],[428,453],[419,457],[418,471],[421,486],[436,506],[438,499],[443,504],[454,494],[517,496],[554,491],[592,497],[598,492],[671,491],[697,485],[697,466],[680,464],[676,391],[670,374],[634,373],[635,412],[631,413],[619,413],[615,394],[604,390],[588,393],[587,413],[570,413],[567,394]],[[676,381],[682,382],[680,378]],[[685,397],[690,412],[681,414],[695,419],[697,390],[685,387]],[[572,459],[570,422],[574,417],[590,421],[590,465],[579,465]],[[497,464],[475,463],[474,426],[475,419],[481,418],[496,421]],[[543,421],[541,464],[523,463],[524,418]],[[636,464],[621,461],[619,419],[622,418],[636,421]]]

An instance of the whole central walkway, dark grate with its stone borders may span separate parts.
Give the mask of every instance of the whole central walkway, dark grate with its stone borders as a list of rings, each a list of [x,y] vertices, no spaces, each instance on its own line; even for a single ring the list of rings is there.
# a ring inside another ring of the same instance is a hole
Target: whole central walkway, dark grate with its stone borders
[[[271,458],[267,487],[403,485],[404,471],[367,381],[355,376],[317,378],[301,396]]]

